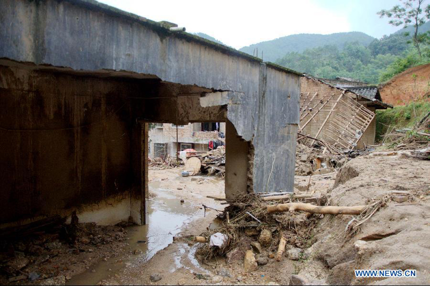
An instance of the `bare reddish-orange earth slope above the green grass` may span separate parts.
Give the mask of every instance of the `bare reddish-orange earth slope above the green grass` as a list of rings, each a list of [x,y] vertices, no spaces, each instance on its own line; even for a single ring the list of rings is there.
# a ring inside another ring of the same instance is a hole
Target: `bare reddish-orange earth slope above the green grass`
[[[415,74],[416,76],[413,76]],[[404,105],[412,99],[429,99],[430,63],[406,69],[379,86],[382,100],[391,105]]]

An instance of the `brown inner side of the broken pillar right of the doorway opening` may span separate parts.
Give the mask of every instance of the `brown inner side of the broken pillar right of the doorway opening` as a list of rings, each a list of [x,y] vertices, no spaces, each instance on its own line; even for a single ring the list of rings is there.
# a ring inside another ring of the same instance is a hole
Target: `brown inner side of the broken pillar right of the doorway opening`
[[[225,123],[225,197],[246,194],[248,143],[238,135],[233,123]]]

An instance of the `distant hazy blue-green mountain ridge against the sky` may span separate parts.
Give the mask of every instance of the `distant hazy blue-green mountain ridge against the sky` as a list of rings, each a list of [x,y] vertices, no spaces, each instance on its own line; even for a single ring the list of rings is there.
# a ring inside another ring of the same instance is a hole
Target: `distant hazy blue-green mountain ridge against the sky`
[[[284,56],[286,53],[302,52],[308,48],[314,48],[322,45],[334,45],[342,49],[346,42],[357,41],[362,45],[368,45],[374,37],[362,32],[342,32],[328,35],[323,34],[293,34],[273,40],[262,41],[259,43],[244,46],[239,50],[252,54],[255,48],[258,48],[258,54],[263,51],[264,61],[275,61]]]

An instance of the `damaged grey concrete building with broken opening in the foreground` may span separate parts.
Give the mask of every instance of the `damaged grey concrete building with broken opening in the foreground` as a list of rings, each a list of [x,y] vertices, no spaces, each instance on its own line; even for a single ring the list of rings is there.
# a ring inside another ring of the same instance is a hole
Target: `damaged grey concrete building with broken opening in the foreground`
[[[225,122],[225,195],[292,191],[300,74],[93,0],[0,2],[0,224],[138,224],[148,122]]]

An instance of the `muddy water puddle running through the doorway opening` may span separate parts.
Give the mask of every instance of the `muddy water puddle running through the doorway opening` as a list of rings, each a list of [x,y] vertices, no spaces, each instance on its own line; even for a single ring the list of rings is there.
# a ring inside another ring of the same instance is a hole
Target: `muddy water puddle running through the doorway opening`
[[[97,262],[83,273],[73,276],[67,285],[95,285],[112,276],[126,283],[124,270],[142,267],[157,251],[170,244],[173,236],[191,220],[195,208],[191,207],[190,202],[181,203],[180,194],[158,188],[157,184],[149,188],[156,194],[149,201],[149,223],[126,228],[129,247],[124,253]]]

